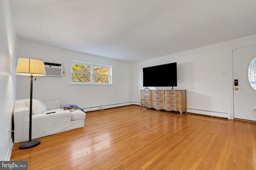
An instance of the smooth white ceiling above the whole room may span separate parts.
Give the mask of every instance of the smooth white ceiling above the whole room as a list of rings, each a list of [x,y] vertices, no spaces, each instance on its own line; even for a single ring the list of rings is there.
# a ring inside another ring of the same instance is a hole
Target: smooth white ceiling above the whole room
[[[256,34],[256,0],[11,0],[21,40],[132,63]]]

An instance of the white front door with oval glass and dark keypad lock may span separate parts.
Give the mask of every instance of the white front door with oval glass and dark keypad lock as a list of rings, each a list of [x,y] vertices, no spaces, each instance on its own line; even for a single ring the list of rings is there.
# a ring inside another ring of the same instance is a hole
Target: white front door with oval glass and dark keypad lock
[[[253,111],[256,107],[256,90],[253,88],[253,83],[256,86],[256,69],[254,70],[254,66],[250,64],[254,59],[256,61],[254,57],[256,45],[233,50],[234,118],[237,119],[256,121],[256,114]],[[250,65],[252,67],[249,69]],[[249,72],[252,85],[248,78]],[[234,83],[236,80],[237,86]]]

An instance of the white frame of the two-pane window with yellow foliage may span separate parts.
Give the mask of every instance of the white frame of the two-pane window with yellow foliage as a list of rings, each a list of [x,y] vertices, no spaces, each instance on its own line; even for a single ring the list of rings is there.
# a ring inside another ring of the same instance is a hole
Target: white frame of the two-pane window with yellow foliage
[[[73,72],[72,64],[82,64],[82,65],[91,66],[91,73],[90,73],[90,75],[91,75],[91,82],[73,82],[73,73],[77,73],[77,72]],[[94,67],[95,66],[109,68],[109,74],[95,74],[94,73]],[[70,84],[112,85],[112,66],[71,60],[71,69],[70,70],[71,70],[70,71],[71,72],[71,75],[70,75],[71,83]],[[103,76],[106,75],[106,76],[109,76],[109,82],[108,83],[98,83],[98,82],[95,82],[95,75],[103,75]]]

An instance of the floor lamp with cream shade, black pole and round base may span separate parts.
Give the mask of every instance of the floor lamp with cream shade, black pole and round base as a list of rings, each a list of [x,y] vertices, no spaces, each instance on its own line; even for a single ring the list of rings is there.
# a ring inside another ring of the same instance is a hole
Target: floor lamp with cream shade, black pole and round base
[[[32,134],[32,89],[34,76],[45,76],[44,62],[38,59],[18,58],[15,74],[30,76],[29,141],[20,144],[19,149],[28,149],[40,144],[40,140],[31,139]]]

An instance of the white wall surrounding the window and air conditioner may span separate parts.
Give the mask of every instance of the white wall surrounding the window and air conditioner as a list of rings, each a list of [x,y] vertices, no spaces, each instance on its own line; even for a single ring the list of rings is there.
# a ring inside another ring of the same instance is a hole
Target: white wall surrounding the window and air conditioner
[[[82,108],[132,102],[132,63],[79,53],[66,49],[19,41],[19,57],[62,63],[64,78],[38,77],[33,81],[33,98],[42,101],[60,100],[60,104],[76,104]],[[70,84],[71,60],[112,66],[113,85]],[[29,98],[28,76],[18,76],[18,98]],[[116,105],[119,106],[119,105]],[[88,110],[88,109],[87,109]]]

